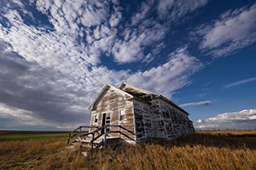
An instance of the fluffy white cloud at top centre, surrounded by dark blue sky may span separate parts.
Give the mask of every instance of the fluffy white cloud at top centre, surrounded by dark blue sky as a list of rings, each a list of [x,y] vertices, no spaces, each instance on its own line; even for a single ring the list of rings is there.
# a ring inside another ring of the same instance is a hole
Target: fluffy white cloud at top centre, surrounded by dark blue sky
[[[119,64],[125,64],[142,60],[144,48],[153,42],[160,41],[165,36],[166,31],[166,26],[160,26],[160,24],[148,20],[144,21],[139,29],[125,29],[125,39],[116,41],[112,48],[115,61]]]

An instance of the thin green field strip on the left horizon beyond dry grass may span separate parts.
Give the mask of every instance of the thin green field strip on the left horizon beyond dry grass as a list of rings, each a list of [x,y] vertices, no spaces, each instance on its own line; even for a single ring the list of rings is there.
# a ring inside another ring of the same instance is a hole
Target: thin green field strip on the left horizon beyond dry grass
[[[2,131],[1,141],[29,140],[29,139],[67,139],[68,132],[40,132],[40,131]]]

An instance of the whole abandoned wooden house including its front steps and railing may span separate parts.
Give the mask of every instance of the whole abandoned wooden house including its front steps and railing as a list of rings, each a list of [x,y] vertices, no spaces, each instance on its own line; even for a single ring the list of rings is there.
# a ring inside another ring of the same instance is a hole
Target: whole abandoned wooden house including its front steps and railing
[[[107,84],[89,110],[90,126],[82,126],[89,127],[89,133],[81,135],[82,127],[73,133],[79,133],[79,139],[92,145],[108,139],[132,143],[195,133],[187,111],[160,94],[125,82],[119,88]]]

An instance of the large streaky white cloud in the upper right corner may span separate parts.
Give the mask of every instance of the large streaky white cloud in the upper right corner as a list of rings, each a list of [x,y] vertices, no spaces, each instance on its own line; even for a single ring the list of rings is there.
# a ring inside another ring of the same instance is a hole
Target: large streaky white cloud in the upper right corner
[[[214,56],[226,56],[256,42],[256,3],[250,8],[227,11],[212,25],[200,26],[194,32],[202,36],[200,48]],[[193,34],[193,33],[192,33]]]

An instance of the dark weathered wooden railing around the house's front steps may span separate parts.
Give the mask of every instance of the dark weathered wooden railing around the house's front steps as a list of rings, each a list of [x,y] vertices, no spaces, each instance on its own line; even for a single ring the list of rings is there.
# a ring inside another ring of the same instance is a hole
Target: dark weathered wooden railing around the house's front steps
[[[101,138],[103,135],[104,135],[104,138],[102,139],[102,142],[100,142],[99,144],[96,145],[96,149],[99,149],[102,145],[103,145],[104,148],[106,148],[107,147],[108,133],[119,133],[119,139],[122,139],[121,135],[123,135],[127,139],[131,139],[131,140],[135,141],[134,138],[131,138],[131,136],[123,133],[122,131],[130,133],[133,136],[135,136],[135,133],[131,132],[129,129],[127,129],[125,127],[122,127],[120,125],[105,125],[103,127],[93,127],[93,128],[97,128],[97,129],[95,131],[90,132],[90,133],[85,133],[85,134],[81,135],[80,134],[81,131],[77,132],[77,130],[81,129],[82,127],[89,127],[89,126],[81,126],[81,127],[76,128],[72,132],[70,132],[69,133],[69,138],[67,140],[67,145],[69,144],[69,140],[71,138],[73,138],[74,136],[78,135],[78,134],[79,134],[79,137],[88,136],[88,135],[92,136],[92,138],[90,140],[91,150],[93,150],[93,146],[94,146],[94,144],[96,144],[95,143],[96,139]],[[110,130],[108,131],[107,129],[109,129],[109,127],[119,127],[119,130],[118,131],[110,131]],[[71,136],[71,134],[74,133],[74,132],[77,132],[77,133],[75,133]]]

